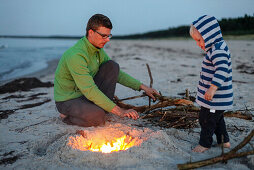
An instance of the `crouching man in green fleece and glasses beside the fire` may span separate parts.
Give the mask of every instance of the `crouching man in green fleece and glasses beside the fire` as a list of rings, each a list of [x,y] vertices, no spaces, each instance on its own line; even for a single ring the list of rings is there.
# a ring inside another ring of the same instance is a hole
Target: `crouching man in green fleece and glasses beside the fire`
[[[93,15],[86,36],[61,57],[54,81],[56,107],[64,122],[79,126],[105,123],[105,113],[139,118],[133,110],[118,107],[113,101],[116,83],[134,90],[144,90],[153,100],[159,93],[119,69],[103,50],[110,41],[112,23],[102,14]]]

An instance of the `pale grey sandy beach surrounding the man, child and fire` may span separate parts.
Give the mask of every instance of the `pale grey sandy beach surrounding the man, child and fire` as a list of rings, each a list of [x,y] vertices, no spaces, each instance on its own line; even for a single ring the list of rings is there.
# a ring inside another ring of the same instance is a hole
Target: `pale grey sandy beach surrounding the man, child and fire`
[[[254,116],[254,41],[228,40],[233,64],[234,110],[250,110]],[[149,85],[149,64],[153,87],[164,96],[181,97],[189,89],[195,96],[203,52],[193,40],[112,40],[105,51],[120,68]],[[28,75],[42,82],[54,81],[57,60],[42,71]],[[27,77],[27,76],[26,76]],[[116,96],[125,98],[141,92],[117,85]],[[24,108],[28,104],[41,103]],[[147,98],[126,101],[145,105]],[[1,169],[177,169],[177,164],[199,161],[221,154],[219,147],[205,153],[193,153],[200,128],[161,128],[145,119],[130,120],[112,114],[105,126],[78,127],[63,123],[56,110],[53,87],[4,93],[0,96],[0,168]],[[141,115],[142,116],[142,115]],[[232,148],[253,129],[253,120],[225,118]],[[129,133],[142,140],[126,151],[100,153],[81,151],[68,145],[77,130],[92,135],[112,131]],[[215,137],[215,136],[214,136]],[[215,139],[215,138],[214,138]],[[214,140],[214,144],[216,140]],[[254,144],[254,141],[252,140]],[[246,145],[242,151],[252,150]],[[225,149],[225,152],[229,149]],[[201,169],[254,169],[254,155],[232,159]]]

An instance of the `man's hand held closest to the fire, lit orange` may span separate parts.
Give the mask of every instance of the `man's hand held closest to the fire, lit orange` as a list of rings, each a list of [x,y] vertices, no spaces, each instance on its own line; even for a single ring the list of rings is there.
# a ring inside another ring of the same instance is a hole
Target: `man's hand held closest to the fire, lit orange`
[[[134,120],[139,118],[138,112],[136,112],[135,110],[133,110],[133,109],[125,110],[125,109],[120,108],[117,105],[111,110],[111,113],[113,113],[117,116],[120,116],[120,117],[132,118]]]

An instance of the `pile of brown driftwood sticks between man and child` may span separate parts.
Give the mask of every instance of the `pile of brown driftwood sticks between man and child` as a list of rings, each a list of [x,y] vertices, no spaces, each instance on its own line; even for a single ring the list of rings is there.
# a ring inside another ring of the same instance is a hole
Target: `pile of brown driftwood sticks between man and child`
[[[186,90],[187,91],[187,90]],[[200,108],[194,106],[193,102],[185,98],[170,98],[166,96],[156,96],[158,102],[153,105],[134,106],[125,104],[124,100],[136,99],[144,97],[140,96],[118,99],[115,96],[115,103],[125,109],[134,109],[139,113],[143,113],[142,119],[147,119],[153,125],[158,125],[165,128],[194,128],[198,125],[198,114]],[[252,120],[251,113],[247,110],[228,111],[224,113],[225,117],[236,117],[240,119]]]

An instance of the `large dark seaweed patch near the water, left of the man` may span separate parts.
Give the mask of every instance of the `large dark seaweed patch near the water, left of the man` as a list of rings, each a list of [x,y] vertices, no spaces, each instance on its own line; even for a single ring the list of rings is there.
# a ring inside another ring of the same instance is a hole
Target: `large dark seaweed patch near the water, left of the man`
[[[16,91],[29,91],[33,88],[53,87],[53,86],[54,86],[53,83],[51,82],[44,83],[35,77],[20,78],[0,86],[0,94],[13,93]]]

